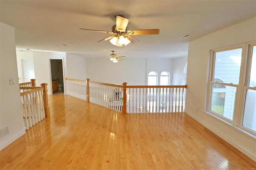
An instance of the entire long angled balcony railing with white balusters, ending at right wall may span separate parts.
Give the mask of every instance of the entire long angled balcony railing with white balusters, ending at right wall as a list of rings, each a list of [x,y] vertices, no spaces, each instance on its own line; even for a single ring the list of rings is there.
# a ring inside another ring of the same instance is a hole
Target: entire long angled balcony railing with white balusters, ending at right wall
[[[68,95],[122,113],[179,113],[184,111],[187,85],[132,86],[68,79]],[[79,82],[83,82],[80,84]]]

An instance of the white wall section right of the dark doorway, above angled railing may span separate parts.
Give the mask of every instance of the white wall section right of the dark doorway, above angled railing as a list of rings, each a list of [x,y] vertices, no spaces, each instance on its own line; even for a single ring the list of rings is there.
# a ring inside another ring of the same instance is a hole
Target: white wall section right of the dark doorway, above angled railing
[[[67,73],[66,77],[71,79],[85,80],[86,77],[86,58],[71,53],[66,53]]]

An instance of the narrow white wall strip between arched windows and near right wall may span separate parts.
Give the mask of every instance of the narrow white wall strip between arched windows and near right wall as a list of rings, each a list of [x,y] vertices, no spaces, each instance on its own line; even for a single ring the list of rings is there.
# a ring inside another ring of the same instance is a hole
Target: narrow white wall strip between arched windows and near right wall
[[[172,85],[185,85],[187,74],[184,73],[184,67],[188,57],[178,57],[172,59]]]

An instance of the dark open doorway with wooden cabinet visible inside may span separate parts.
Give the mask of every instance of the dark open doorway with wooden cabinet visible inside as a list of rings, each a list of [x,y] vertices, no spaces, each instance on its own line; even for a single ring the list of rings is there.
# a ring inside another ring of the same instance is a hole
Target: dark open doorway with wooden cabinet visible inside
[[[50,59],[52,74],[52,94],[64,94],[63,60]]]

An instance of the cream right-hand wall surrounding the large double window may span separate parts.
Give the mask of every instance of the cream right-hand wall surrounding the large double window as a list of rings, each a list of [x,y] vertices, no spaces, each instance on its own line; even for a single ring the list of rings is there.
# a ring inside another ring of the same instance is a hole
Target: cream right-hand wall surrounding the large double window
[[[256,138],[204,112],[210,50],[256,40],[256,18],[189,43],[185,113],[256,161]]]

